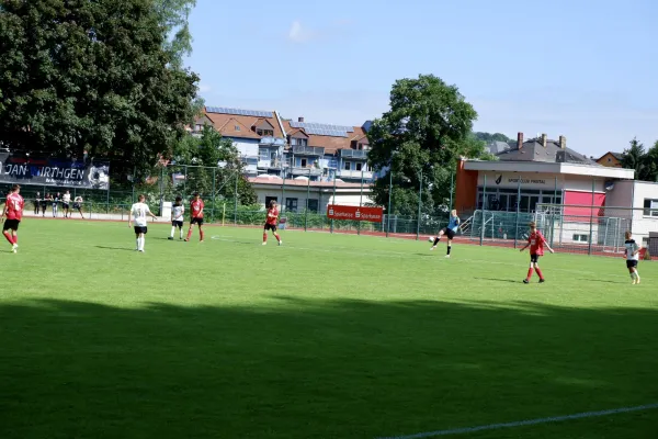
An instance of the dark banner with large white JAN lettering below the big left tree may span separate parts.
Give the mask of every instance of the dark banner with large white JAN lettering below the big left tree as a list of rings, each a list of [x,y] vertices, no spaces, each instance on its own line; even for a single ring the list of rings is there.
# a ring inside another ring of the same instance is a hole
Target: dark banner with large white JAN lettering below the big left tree
[[[0,182],[107,190],[110,162],[0,153]]]

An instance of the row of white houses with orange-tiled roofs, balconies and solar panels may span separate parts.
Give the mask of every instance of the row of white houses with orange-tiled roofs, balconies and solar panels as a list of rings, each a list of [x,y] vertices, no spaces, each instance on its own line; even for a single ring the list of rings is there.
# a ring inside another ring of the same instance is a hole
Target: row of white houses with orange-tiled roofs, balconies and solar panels
[[[276,111],[206,106],[191,131],[211,125],[238,148],[249,178],[276,176],[311,181],[371,182],[367,130],[284,119]]]

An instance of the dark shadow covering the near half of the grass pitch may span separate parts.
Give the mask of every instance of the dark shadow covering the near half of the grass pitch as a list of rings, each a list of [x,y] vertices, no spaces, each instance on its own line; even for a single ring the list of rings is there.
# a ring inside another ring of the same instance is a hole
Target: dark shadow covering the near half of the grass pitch
[[[265,301],[0,305],[0,437],[356,439],[658,401],[656,309]],[[656,415],[468,438],[653,438]]]

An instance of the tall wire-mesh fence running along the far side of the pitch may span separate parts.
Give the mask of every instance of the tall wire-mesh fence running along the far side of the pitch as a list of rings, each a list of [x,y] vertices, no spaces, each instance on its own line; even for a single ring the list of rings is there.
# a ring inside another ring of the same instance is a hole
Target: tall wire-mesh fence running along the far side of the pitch
[[[300,175],[302,173],[302,175]],[[395,173],[388,181],[388,200],[378,222],[331,219],[328,206],[362,209],[375,206],[373,178],[365,171],[351,180],[341,175],[296,177],[259,176],[248,179],[238,169],[198,166],[166,166],[143,182],[113,184],[110,191],[68,188],[71,204],[81,196],[81,214],[92,219],[127,219],[129,206],[145,194],[151,211],[168,221],[167,206],[177,196],[189,205],[198,192],[205,203],[206,222],[220,225],[260,226],[265,205],[280,205],[282,229],[327,230],[424,239],[445,227],[454,207],[462,219],[457,240],[476,245],[520,247],[529,235],[529,223],[537,223],[548,243],[560,251],[616,255],[623,251],[624,233],[633,230],[646,247],[656,233],[655,218],[643,209],[605,206],[604,183],[583,180],[571,190],[565,182],[548,179],[503,179],[479,176],[473,192],[460,196],[455,176],[446,178],[450,198],[436,206],[430,184],[421,179],[418,191],[396,188]],[[382,183],[382,181],[379,182]],[[571,183],[570,183],[571,184]],[[9,184],[0,184],[7,192]],[[588,187],[590,188],[588,190]],[[393,190],[390,190],[393,188]],[[67,188],[23,185],[29,215],[63,216],[61,195]],[[47,195],[50,196],[47,196]],[[576,203],[572,201],[576,200]],[[566,203],[564,202],[566,201]],[[580,203],[578,203],[580,202]],[[71,206],[72,207],[72,206]],[[80,213],[72,209],[72,216]],[[412,214],[409,214],[412,212]],[[405,214],[402,214],[405,213]]]

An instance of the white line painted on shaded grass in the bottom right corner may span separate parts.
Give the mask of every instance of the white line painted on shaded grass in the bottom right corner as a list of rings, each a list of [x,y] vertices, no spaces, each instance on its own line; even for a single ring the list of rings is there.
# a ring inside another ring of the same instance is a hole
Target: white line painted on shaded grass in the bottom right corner
[[[514,423],[489,424],[489,425],[477,426],[477,427],[453,428],[450,430],[427,431],[427,432],[418,432],[415,435],[405,435],[405,436],[387,436],[387,437],[383,437],[383,438],[378,438],[378,439],[435,438],[438,436],[465,435],[468,432],[497,430],[500,428],[524,427],[524,426],[531,426],[531,425],[537,425],[537,424],[561,423],[565,420],[572,420],[572,419],[594,418],[594,417],[600,417],[600,416],[617,415],[621,413],[655,410],[657,408],[658,408],[658,403],[655,403],[655,404],[637,405],[634,407],[612,408],[609,410],[577,413],[574,415],[566,415],[566,416],[553,416],[553,417],[547,417],[547,418],[518,420]]]

